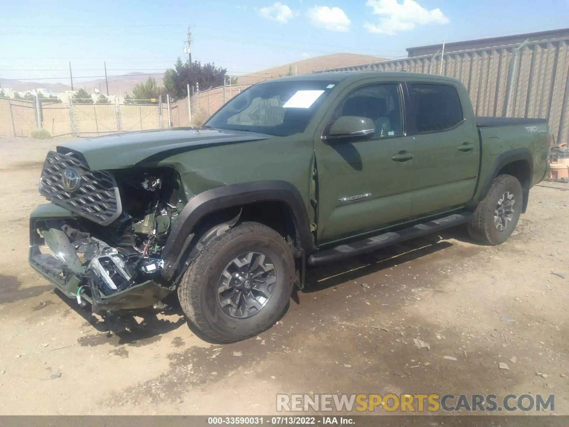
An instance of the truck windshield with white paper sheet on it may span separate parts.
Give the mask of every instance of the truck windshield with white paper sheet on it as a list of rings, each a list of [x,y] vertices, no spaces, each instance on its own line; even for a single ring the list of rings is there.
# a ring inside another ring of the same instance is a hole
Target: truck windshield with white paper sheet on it
[[[302,133],[335,85],[321,80],[259,83],[234,97],[205,125],[282,137]]]

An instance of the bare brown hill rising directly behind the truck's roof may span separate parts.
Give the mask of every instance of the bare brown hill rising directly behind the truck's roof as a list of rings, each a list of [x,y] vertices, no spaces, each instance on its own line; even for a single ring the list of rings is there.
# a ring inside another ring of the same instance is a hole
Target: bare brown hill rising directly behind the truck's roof
[[[263,79],[274,79],[280,75],[286,75],[292,70],[296,74],[310,74],[325,68],[347,67],[349,65],[367,64],[372,61],[383,61],[384,58],[370,55],[358,54],[332,54],[324,56],[315,56],[314,58],[303,59],[290,64],[280,65],[279,67],[263,69],[254,73],[240,76],[238,83],[250,84],[257,83]]]

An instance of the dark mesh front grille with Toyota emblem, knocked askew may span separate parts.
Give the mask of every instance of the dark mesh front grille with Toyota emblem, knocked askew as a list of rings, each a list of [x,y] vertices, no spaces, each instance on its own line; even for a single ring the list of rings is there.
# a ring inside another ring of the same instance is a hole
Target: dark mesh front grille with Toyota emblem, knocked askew
[[[70,170],[70,179],[64,173]],[[75,178],[78,176],[78,178]],[[88,218],[97,224],[109,225],[121,215],[121,199],[113,175],[91,171],[73,155],[50,151],[43,165],[39,192],[52,203]]]

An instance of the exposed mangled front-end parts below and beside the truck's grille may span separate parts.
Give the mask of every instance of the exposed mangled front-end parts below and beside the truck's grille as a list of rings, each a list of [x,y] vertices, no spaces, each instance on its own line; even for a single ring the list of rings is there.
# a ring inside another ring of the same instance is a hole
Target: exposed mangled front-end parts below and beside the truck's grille
[[[39,234],[32,238],[31,262],[56,278],[77,301],[91,302],[93,310],[123,306],[123,295],[127,305],[143,305],[144,298],[171,290],[160,274],[161,254],[184,206],[174,170],[114,171],[113,175],[122,202],[118,219],[106,226],[83,217],[41,220],[35,224]],[[40,251],[43,244],[51,254]],[[116,294],[118,299],[113,297]]]

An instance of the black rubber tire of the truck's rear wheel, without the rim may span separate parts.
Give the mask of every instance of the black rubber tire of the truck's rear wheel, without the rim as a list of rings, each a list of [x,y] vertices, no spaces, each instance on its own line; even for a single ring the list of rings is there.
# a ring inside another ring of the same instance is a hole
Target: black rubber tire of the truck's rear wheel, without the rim
[[[498,201],[506,192],[514,195],[514,213],[506,228],[500,231],[494,224],[494,214]],[[486,197],[474,212],[473,219],[468,223],[468,233],[472,239],[485,245],[500,245],[508,240],[518,224],[523,203],[522,186],[512,175],[498,175],[492,182]]]

